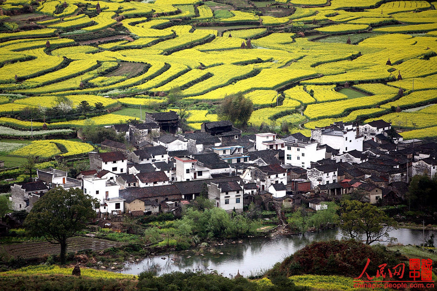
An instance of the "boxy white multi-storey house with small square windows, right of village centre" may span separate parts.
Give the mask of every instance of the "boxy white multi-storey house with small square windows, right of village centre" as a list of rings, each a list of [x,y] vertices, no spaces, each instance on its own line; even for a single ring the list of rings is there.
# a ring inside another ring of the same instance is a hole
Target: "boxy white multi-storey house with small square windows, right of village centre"
[[[311,162],[323,160],[326,146],[319,146],[316,141],[295,140],[286,143],[285,163],[297,167],[309,168]]]

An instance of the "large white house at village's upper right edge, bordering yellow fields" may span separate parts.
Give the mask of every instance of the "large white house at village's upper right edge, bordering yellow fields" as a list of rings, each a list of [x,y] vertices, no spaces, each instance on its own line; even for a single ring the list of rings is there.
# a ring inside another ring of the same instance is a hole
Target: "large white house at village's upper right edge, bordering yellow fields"
[[[327,145],[338,149],[339,153],[351,150],[363,151],[364,136],[359,135],[359,130],[352,124],[336,122],[324,128],[311,129],[311,138],[320,145]]]

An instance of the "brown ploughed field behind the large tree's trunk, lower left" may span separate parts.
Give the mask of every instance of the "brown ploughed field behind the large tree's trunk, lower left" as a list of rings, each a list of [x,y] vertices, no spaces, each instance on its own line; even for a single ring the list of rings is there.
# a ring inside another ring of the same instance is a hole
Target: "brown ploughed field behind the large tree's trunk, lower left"
[[[102,239],[74,237],[67,240],[67,253],[82,250],[100,251],[110,247],[122,246],[123,242],[113,242]],[[0,245],[0,253],[5,251],[14,258],[32,259],[44,257],[46,255],[59,254],[61,246],[50,242],[23,242]]]

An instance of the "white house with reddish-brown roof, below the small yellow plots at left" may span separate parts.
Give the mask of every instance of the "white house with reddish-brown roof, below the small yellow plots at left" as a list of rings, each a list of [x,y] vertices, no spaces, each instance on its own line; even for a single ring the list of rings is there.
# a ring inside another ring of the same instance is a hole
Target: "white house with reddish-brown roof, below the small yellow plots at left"
[[[89,152],[89,168],[100,172],[107,170],[115,174],[127,173],[127,160],[122,152]]]

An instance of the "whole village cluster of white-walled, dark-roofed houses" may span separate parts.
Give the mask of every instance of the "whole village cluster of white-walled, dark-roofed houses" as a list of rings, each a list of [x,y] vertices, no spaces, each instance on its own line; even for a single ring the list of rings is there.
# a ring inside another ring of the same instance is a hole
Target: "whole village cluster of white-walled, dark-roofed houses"
[[[229,121],[206,122],[180,132],[175,112],[149,113],[146,122],[120,124],[129,145],[106,140],[90,152],[90,169],[75,178],[56,169],[37,171],[34,182],[11,187],[15,210],[30,211],[50,188],[82,188],[103,214],[176,211],[199,195],[217,207],[242,211],[255,203],[314,210],[323,201],[359,191],[373,204],[402,203],[409,179],[433,177],[437,143],[403,141],[391,124],[337,122],[280,138],[242,135]]]

